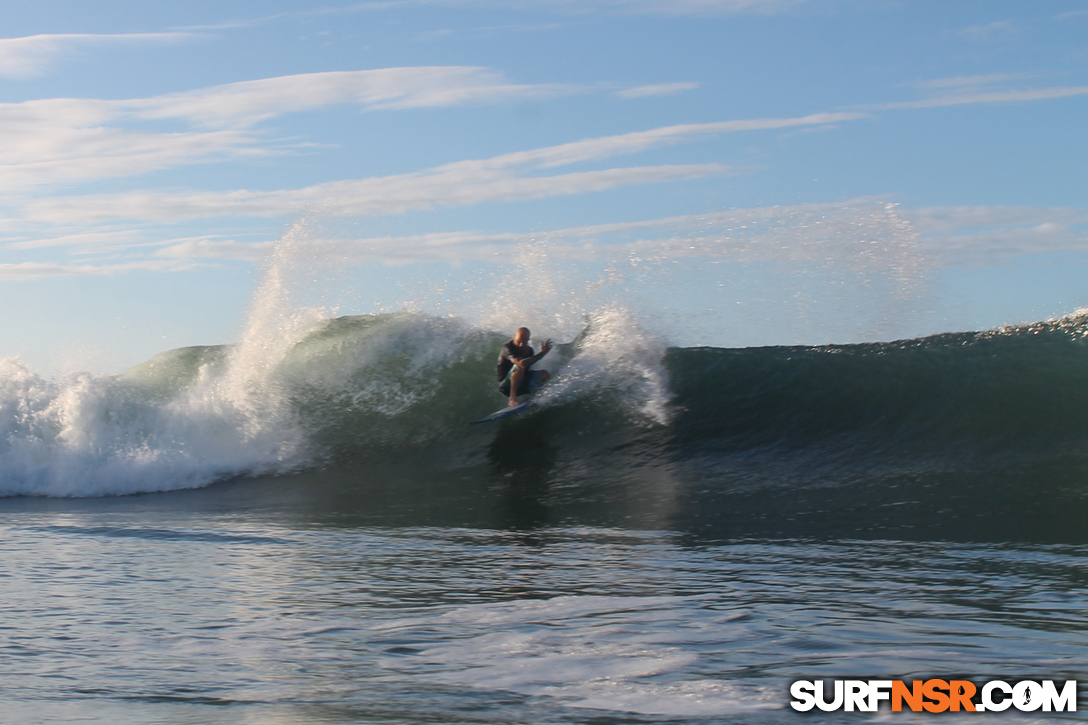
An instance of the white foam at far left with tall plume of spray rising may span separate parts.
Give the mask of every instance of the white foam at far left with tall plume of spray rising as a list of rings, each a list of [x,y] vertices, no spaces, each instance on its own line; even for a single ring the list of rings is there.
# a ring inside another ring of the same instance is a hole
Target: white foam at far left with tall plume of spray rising
[[[321,310],[290,305],[305,230],[265,266],[227,365],[201,367],[168,400],[139,380],[77,372],[45,380],[0,361],[0,495],[91,496],[193,488],[305,460],[277,367]]]

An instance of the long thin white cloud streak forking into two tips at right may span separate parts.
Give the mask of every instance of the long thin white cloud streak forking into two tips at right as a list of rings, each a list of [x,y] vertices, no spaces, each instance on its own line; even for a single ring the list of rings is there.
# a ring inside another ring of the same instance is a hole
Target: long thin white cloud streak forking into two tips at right
[[[716,163],[614,168],[555,175],[536,172],[631,155],[693,137],[812,126],[868,118],[862,113],[817,113],[790,119],[751,119],[664,126],[589,138],[489,159],[458,161],[420,172],[327,182],[299,189],[254,192],[131,192],[27,201],[28,219],[90,223],[115,219],[181,220],[209,217],[281,217],[307,211],[330,216],[393,214],[440,207],[518,201],[737,173]]]

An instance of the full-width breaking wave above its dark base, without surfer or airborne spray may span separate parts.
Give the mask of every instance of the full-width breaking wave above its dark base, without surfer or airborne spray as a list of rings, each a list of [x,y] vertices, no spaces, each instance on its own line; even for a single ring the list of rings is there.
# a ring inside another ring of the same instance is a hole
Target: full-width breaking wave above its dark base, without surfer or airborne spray
[[[545,359],[555,381],[530,417],[568,426],[557,435],[582,439],[586,466],[625,450],[617,474],[660,457],[710,478],[799,456],[809,463],[794,477],[1023,465],[1084,453],[1086,339],[1075,315],[891,343],[667,348],[605,309]],[[481,434],[518,425],[466,427],[503,404],[505,340],[398,312],[319,321],[242,371],[240,345],[171,351],[119,377],[44,380],[4,360],[0,493],[161,491],[434,446],[471,457]]]

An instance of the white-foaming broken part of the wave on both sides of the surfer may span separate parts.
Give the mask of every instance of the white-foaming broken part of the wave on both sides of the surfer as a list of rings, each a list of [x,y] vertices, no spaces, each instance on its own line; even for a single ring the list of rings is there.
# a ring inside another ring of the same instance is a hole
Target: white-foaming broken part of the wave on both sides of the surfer
[[[664,346],[618,329],[626,322],[605,310],[560,345],[543,365],[570,359],[542,405],[613,390],[636,416],[663,422]],[[506,339],[455,319],[342,317],[282,339],[276,331],[279,357],[245,343],[186,347],[118,377],[45,380],[0,361],[0,494],[165,491],[463,442],[466,422],[504,402],[493,370]]]

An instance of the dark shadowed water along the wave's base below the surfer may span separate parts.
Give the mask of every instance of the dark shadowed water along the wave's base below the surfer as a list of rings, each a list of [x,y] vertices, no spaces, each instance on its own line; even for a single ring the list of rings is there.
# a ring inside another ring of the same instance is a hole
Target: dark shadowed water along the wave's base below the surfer
[[[667,443],[557,435],[544,415],[498,432],[475,457],[359,453],[323,470],[206,489],[103,499],[0,499],[3,513],[232,514],[275,526],[555,526],[667,530],[692,542],[895,539],[1088,543],[1079,463],[1031,469],[858,467],[828,452],[670,457]],[[647,435],[648,437],[648,435]],[[832,468],[833,470],[829,470]]]

